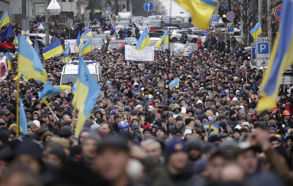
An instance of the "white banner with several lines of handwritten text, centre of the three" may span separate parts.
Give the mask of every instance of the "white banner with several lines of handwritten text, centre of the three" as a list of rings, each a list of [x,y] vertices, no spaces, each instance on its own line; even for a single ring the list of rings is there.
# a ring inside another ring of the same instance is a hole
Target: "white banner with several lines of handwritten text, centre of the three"
[[[144,47],[136,51],[135,46],[125,45],[125,59],[133,61],[154,61],[154,47]]]

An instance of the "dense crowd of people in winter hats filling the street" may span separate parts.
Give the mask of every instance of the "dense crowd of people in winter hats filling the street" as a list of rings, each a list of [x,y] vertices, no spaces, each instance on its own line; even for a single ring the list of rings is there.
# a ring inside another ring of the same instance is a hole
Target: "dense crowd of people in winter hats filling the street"
[[[263,70],[241,47],[214,40],[192,56],[154,51],[151,62],[115,49],[84,54],[103,79],[77,138],[72,90],[48,97],[50,111],[38,97],[45,82],[16,78],[11,57],[0,83],[0,185],[293,185],[293,91],[284,87],[275,107],[259,110]],[[62,56],[41,59],[47,80],[60,85]],[[17,94],[28,125],[18,136]]]

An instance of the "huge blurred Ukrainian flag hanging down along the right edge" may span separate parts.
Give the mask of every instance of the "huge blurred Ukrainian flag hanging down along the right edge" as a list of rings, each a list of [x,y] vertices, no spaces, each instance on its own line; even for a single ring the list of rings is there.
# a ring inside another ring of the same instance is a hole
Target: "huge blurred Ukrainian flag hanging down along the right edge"
[[[276,105],[282,73],[293,63],[293,1],[284,0],[283,5],[282,26],[277,33],[268,69],[261,82],[263,97],[257,105],[260,110]]]

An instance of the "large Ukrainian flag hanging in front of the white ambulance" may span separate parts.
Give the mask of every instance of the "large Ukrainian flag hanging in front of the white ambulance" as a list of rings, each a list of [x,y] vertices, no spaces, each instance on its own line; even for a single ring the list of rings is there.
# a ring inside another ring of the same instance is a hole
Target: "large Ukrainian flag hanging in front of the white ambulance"
[[[91,110],[94,108],[99,95],[100,85],[88,72],[84,60],[79,57],[76,92],[72,101],[74,108],[79,110],[74,133],[76,138],[79,137],[80,131],[83,128],[86,119],[90,116]]]

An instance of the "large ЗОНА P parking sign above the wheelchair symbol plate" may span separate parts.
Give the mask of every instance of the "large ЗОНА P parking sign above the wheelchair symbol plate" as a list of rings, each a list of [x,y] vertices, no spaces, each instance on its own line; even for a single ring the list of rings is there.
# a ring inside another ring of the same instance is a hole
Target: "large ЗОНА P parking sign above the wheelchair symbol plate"
[[[270,37],[258,37],[256,42],[256,58],[270,58]]]

